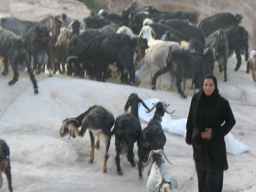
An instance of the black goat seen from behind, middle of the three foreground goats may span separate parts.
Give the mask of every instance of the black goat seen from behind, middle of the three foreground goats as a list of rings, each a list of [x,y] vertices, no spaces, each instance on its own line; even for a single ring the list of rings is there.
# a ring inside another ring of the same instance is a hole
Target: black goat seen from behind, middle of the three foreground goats
[[[141,133],[140,120],[138,116],[138,104],[141,103],[146,109],[149,108],[145,103],[138,97],[136,93],[132,93],[124,106],[124,110],[127,112],[129,106],[132,108],[131,113],[125,113],[121,116],[116,117],[116,122],[114,126],[115,134],[115,145],[116,145],[116,167],[118,175],[122,175],[120,167],[120,153],[127,153],[128,161],[131,163],[132,167],[135,166],[133,145],[137,141],[139,145],[139,138]]]

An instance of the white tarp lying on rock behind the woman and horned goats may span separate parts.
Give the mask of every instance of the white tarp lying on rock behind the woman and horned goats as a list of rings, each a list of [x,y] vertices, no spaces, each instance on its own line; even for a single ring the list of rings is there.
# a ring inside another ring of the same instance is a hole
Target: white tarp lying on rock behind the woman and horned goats
[[[148,108],[151,108],[153,106],[152,103],[156,103],[158,101],[159,99],[157,98],[149,98],[147,100],[144,100],[143,102],[148,106]],[[173,110],[174,109],[172,109],[171,107],[167,108],[168,112],[172,112]],[[145,113],[145,108],[142,105],[140,105],[138,111],[139,118],[148,123],[149,120],[154,116],[155,111],[156,109],[153,109],[150,113]],[[180,119],[172,119],[170,114],[165,113],[162,118],[161,125],[162,129],[166,132],[186,137],[186,123],[187,118],[185,117]],[[248,146],[245,146],[243,143],[236,140],[231,133],[228,133],[228,135],[225,136],[225,143],[227,153],[233,155],[241,154],[250,149]]]

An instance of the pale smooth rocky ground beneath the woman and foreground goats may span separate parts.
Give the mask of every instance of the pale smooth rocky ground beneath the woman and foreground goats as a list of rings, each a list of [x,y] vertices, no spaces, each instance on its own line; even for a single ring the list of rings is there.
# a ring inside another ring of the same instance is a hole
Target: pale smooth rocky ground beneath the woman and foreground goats
[[[256,87],[251,74],[246,74],[246,64],[238,72],[234,71],[236,58],[228,60],[228,82],[223,82],[223,74],[215,66],[214,75],[218,79],[220,94],[227,98],[236,118],[231,133],[236,139],[250,147],[240,155],[228,154],[228,171],[224,172],[223,192],[256,191]],[[2,73],[3,67],[0,67]],[[0,137],[6,140],[11,151],[12,187],[22,192],[146,192],[148,167],[143,172],[144,181],[138,181],[137,167],[131,167],[125,156],[121,156],[123,175],[116,172],[114,136],[109,148],[108,171],[102,172],[105,146],[101,143],[95,150],[95,159],[88,164],[90,139],[86,132],[83,138],[68,140],[60,138],[62,121],[83,113],[92,105],[101,105],[113,115],[124,113],[124,104],[130,93],[135,92],[142,100],[158,98],[170,104],[173,119],[188,116],[193,90],[187,82],[188,99],[182,99],[177,90],[172,92],[152,91],[149,83],[143,87],[107,83],[86,79],[47,74],[36,75],[39,94],[34,95],[32,84],[25,71],[20,72],[20,80],[8,86],[12,70],[8,76],[0,76]],[[112,83],[114,82],[114,83]],[[164,81],[167,86],[168,80]],[[141,121],[142,128],[147,124]],[[173,164],[165,164],[170,174],[178,181],[180,192],[196,192],[197,180],[192,159],[192,148],[179,135],[165,133],[167,141],[164,152]],[[138,160],[137,147],[134,147]],[[3,187],[7,192],[6,178]]]

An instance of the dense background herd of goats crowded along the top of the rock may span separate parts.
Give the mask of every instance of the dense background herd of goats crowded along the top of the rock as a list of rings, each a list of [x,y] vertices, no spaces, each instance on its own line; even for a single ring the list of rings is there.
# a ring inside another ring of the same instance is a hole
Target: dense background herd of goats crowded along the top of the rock
[[[25,65],[36,94],[33,72],[44,72],[45,65],[49,76],[58,71],[105,82],[118,74],[123,83],[135,86],[150,70],[152,89],[163,89],[163,75],[169,72],[169,87],[174,84],[186,98],[186,79],[192,79],[196,92],[203,77],[212,73],[215,61],[227,81],[228,57],[235,52],[235,71],[245,54],[246,72],[251,66],[255,81],[255,61],[248,60],[248,32],[239,25],[242,15],[218,13],[196,26],[197,17],[196,12],[161,12],[153,5],[139,9],[134,2],[120,14],[100,10],[86,16],[84,22],[64,13],[38,22],[0,18],[2,75],[8,73],[9,63],[14,72],[12,85],[18,81],[19,66]]]

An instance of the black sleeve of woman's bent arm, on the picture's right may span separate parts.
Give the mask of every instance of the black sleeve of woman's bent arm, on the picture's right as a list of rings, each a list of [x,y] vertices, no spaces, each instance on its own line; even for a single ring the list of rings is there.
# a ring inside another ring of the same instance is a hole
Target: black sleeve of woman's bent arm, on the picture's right
[[[225,103],[223,105],[223,115],[225,123],[220,127],[220,129],[212,129],[212,139],[223,138],[236,124],[236,120],[227,100],[225,100]]]

